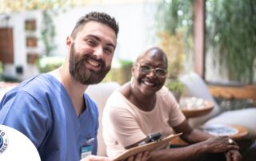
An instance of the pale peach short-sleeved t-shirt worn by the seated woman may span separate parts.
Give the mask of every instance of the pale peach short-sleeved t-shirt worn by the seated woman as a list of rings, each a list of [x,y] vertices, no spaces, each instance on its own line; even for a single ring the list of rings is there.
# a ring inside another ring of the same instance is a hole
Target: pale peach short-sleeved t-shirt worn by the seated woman
[[[183,120],[185,116],[166,87],[157,92],[156,104],[150,112],[140,110],[122,93],[115,91],[107,100],[102,116],[106,153],[114,157],[125,151],[124,147],[154,132],[170,135],[170,127],[181,124]]]

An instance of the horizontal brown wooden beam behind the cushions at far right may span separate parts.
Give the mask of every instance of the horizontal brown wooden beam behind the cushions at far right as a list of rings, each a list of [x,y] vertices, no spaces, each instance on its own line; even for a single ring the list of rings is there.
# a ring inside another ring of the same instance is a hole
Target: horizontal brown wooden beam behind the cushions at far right
[[[214,97],[224,99],[253,99],[256,100],[256,85],[218,86],[208,85]]]

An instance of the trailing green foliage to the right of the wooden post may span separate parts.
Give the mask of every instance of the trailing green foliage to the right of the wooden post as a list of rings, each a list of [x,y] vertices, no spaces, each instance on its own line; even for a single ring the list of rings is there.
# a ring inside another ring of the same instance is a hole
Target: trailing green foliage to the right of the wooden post
[[[206,0],[206,44],[230,80],[253,83],[256,69],[256,1]]]

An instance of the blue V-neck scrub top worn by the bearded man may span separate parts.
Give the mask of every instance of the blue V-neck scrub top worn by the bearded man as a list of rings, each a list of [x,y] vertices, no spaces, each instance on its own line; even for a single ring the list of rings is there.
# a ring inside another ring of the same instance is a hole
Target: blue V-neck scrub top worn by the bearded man
[[[86,110],[76,115],[70,96],[50,74],[24,81],[2,98],[0,124],[17,129],[37,147],[42,160],[76,161],[94,139],[97,153],[98,108],[84,94]]]

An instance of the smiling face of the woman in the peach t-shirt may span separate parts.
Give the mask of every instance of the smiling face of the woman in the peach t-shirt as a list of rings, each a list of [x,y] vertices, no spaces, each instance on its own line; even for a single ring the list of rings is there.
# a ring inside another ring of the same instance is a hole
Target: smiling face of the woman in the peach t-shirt
[[[150,67],[145,73],[143,66]],[[167,58],[159,48],[152,48],[142,55],[133,66],[134,87],[145,96],[154,95],[166,81],[166,77],[159,77],[158,69],[167,69]],[[158,75],[158,76],[157,76]]]

